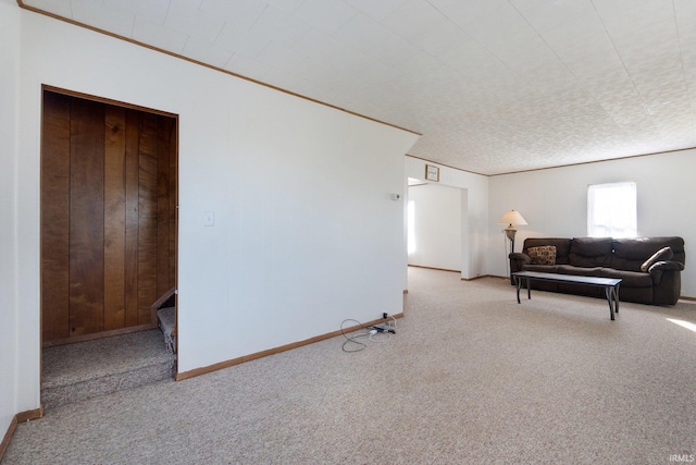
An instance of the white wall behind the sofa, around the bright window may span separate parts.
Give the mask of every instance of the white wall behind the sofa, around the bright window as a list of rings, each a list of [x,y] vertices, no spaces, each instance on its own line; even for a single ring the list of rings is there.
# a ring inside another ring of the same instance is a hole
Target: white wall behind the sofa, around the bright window
[[[519,210],[527,227],[518,227],[515,250],[525,237],[587,235],[587,186],[619,181],[637,182],[638,235],[684,237],[686,267],[682,295],[696,296],[696,149],[634,157],[575,167],[555,168],[490,178],[492,274],[506,274],[502,228],[497,220]],[[500,244],[500,246],[496,246]]]

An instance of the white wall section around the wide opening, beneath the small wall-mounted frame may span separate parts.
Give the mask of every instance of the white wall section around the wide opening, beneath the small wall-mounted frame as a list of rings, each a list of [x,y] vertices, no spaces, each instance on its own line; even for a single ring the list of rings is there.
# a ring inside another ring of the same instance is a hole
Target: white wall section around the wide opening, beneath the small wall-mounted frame
[[[406,157],[406,175],[423,180],[427,163],[420,158]],[[463,189],[461,277],[470,279],[487,274],[488,261],[486,257],[490,233],[488,228],[488,178],[449,167],[438,167],[439,185]]]

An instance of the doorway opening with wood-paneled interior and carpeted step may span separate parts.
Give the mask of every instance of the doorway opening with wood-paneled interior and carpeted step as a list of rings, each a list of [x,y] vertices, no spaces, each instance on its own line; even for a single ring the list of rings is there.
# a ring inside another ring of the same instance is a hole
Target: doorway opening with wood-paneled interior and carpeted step
[[[173,379],[156,311],[176,289],[177,131],[175,114],[42,89],[45,406]]]

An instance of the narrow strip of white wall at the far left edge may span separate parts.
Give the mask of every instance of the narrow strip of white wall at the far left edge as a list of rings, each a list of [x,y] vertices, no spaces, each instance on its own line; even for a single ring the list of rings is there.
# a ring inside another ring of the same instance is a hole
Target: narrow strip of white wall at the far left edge
[[[0,438],[17,412],[16,95],[20,14],[0,1]],[[28,409],[28,408],[27,408]]]

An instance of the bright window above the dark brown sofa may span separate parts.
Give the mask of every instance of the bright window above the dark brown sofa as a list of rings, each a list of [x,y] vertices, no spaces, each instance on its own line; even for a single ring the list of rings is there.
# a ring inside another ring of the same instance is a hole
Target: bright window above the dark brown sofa
[[[637,235],[636,184],[594,184],[587,187],[587,235],[635,237]]]

